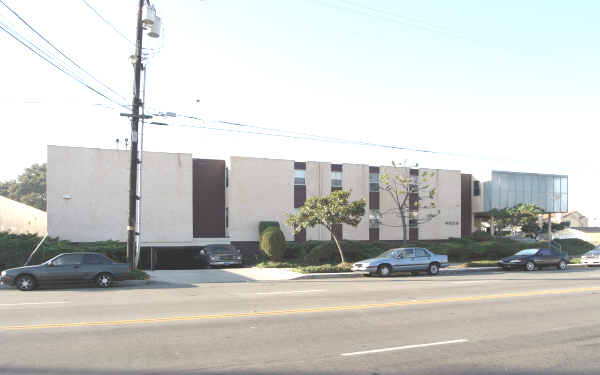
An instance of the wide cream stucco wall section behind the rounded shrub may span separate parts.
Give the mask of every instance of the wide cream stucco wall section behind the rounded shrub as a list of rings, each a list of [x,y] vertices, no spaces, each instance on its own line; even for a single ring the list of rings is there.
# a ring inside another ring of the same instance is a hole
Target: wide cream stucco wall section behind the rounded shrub
[[[258,241],[261,221],[278,221],[286,241],[294,240],[285,224],[294,210],[293,161],[231,157],[228,196],[232,241]]]

